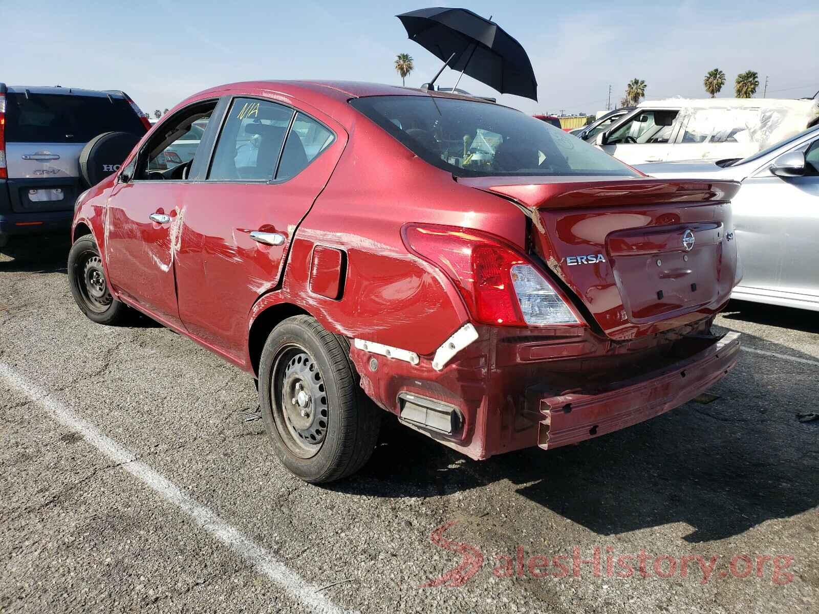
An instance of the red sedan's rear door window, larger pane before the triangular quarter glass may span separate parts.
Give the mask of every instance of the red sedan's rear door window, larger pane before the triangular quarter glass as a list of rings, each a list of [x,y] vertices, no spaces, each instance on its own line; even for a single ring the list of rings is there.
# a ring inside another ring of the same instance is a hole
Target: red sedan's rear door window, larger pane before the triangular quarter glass
[[[236,98],[225,120],[208,179],[270,181],[293,111],[275,102]]]

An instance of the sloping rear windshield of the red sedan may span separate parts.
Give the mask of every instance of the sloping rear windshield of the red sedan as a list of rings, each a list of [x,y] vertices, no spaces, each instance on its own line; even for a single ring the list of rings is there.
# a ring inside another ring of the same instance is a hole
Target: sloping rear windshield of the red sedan
[[[431,96],[363,97],[350,104],[456,177],[636,176],[604,151],[509,107]]]

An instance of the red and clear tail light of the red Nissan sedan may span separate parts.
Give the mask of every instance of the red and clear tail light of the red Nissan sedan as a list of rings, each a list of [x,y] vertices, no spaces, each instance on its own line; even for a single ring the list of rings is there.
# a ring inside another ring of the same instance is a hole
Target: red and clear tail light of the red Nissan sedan
[[[405,246],[449,277],[478,323],[580,324],[568,301],[513,246],[468,228],[406,224]]]

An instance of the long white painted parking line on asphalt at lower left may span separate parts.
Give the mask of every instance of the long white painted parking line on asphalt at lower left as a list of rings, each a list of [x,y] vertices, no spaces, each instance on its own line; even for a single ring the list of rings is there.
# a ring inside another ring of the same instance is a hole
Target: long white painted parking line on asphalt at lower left
[[[169,503],[173,503],[183,512],[188,514],[192,520],[206,530],[210,535],[213,535],[217,540],[233,550],[239,557],[248,562],[256,571],[280,587],[282,587],[287,594],[292,598],[296,598],[305,606],[310,607],[314,612],[327,612],[328,614],[340,614],[345,612],[342,608],[337,607],[334,603],[324,597],[323,594],[317,593],[318,587],[310,585],[301,579],[301,576],[296,574],[279,561],[278,558],[270,553],[260,544],[256,544],[250,537],[243,534],[235,526],[231,526],[218,517],[215,512],[206,508],[204,505],[197,503],[192,497],[179,489],[179,486],[174,485],[172,481],[163,476],[161,473],[154,471],[145,463],[136,460],[137,455],[131,450],[124,448],[112,440],[110,437],[103,435],[89,422],[80,418],[74,413],[66,404],[55,399],[49,395],[47,391],[29,381],[27,378],[16,372],[6,363],[0,363],[0,376],[5,379],[12,388],[16,388],[35,401],[45,409],[53,420],[59,422],[64,427],[76,431],[89,444],[97,448],[102,454],[105,454],[114,463],[122,463],[121,467],[124,471],[129,472],[134,477],[137,477],[148,488],[160,494],[163,499]]]

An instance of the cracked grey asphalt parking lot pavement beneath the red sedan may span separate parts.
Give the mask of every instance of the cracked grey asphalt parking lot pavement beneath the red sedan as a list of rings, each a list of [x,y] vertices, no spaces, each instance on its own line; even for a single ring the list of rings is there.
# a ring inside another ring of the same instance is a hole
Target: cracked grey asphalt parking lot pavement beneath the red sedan
[[[475,462],[391,419],[274,458],[250,377],[90,322],[64,242],[0,256],[0,612],[817,612],[819,314],[732,303],[713,396]]]

